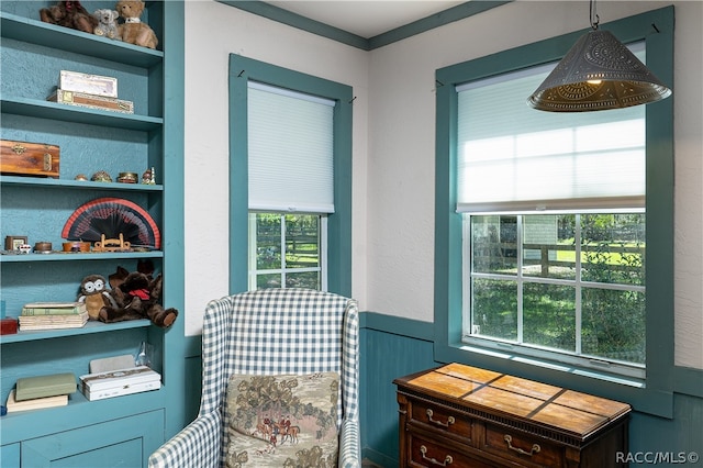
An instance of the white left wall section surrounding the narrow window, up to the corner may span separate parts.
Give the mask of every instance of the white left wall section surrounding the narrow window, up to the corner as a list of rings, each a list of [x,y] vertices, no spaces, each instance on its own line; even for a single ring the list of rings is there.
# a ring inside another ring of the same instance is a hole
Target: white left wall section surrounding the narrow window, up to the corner
[[[228,293],[230,54],[349,85],[354,101],[353,294],[366,296],[368,58],[365,52],[214,1],[186,2],[186,334]],[[208,246],[202,248],[201,246]]]

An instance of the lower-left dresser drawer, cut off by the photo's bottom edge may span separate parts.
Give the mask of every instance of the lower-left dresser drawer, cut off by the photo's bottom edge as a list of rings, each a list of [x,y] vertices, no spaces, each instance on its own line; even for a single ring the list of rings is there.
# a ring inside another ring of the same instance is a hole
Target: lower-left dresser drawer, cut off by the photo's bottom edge
[[[409,438],[409,467],[495,468],[494,464],[481,460],[480,456],[472,458],[466,449],[448,448],[440,443],[415,434],[410,434]]]

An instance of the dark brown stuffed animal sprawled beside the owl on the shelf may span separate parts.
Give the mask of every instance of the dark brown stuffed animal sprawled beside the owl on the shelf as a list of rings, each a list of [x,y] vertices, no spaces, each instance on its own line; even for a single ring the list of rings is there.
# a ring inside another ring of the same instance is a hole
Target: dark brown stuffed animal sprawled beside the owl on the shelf
[[[119,274],[119,271],[118,271]],[[115,282],[119,278],[114,277]],[[125,320],[148,319],[156,326],[169,327],[178,316],[176,309],[164,309],[161,299],[163,276],[155,279],[141,271],[129,274],[122,283],[110,291],[100,309],[100,321],[104,323],[123,322]]]

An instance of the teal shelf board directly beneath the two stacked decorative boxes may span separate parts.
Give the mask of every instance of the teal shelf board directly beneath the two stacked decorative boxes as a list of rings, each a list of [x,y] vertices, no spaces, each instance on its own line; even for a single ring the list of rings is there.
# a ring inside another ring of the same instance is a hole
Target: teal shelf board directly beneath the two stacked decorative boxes
[[[0,98],[0,109],[3,113],[9,114],[145,132],[158,129],[164,124],[164,119],[149,115],[125,114],[40,101],[38,99],[8,98],[4,96]]]

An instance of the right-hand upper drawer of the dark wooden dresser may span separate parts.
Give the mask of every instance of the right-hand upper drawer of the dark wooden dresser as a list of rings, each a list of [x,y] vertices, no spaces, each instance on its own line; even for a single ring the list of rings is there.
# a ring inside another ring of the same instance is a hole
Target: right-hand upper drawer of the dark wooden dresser
[[[565,448],[536,435],[496,425],[486,425],[483,450],[521,464],[563,466]]]

